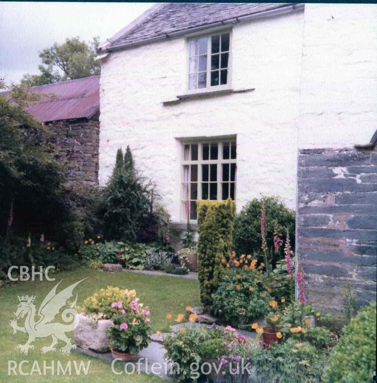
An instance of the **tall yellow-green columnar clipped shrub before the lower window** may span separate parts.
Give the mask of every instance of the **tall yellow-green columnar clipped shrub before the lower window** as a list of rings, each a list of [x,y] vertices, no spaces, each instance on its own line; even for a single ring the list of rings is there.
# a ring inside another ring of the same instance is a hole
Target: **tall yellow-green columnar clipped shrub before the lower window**
[[[230,198],[226,202],[198,201],[198,279],[200,300],[206,308],[211,306],[225,270],[221,260],[230,258],[235,211]]]

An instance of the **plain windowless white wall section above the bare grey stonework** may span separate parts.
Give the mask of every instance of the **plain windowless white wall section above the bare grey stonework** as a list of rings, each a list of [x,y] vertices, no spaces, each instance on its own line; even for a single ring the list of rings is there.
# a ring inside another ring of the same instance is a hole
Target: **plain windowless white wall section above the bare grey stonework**
[[[305,4],[300,148],[352,147],[372,138],[376,20],[376,4]]]

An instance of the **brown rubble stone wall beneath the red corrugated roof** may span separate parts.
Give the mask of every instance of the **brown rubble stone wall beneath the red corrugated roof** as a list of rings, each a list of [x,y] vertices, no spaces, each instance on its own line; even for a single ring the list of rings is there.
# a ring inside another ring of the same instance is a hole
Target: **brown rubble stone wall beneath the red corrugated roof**
[[[59,160],[68,162],[67,176],[75,185],[98,185],[99,122],[87,119],[50,123]]]

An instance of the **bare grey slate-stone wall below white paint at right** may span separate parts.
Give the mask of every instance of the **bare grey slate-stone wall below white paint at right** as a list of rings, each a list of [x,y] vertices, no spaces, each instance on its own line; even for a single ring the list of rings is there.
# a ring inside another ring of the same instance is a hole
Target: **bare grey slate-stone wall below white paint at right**
[[[308,300],[341,311],[376,299],[377,151],[303,149],[298,154],[296,249]]]

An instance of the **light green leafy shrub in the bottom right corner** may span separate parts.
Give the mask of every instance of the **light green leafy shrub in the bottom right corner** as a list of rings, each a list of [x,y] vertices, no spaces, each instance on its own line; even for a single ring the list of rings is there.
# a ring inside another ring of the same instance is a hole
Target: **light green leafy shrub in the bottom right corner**
[[[376,374],[376,303],[362,308],[344,326],[333,349],[324,382],[367,382]]]

